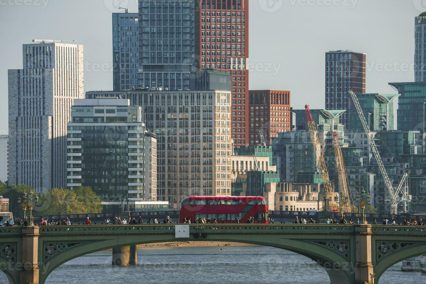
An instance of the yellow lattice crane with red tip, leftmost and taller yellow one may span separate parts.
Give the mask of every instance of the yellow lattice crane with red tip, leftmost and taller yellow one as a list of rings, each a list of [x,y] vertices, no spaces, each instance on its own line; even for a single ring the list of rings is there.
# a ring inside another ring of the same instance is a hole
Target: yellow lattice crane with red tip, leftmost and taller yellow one
[[[327,167],[325,166],[324,153],[322,153],[320,138],[318,137],[317,126],[312,117],[311,110],[308,105],[305,105],[306,121],[308,122],[309,133],[311,134],[314,153],[317,158],[317,171],[321,174],[322,184],[324,185],[325,196],[329,200],[330,210],[337,209],[337,204],[334,201],[334,193],[331,187],[330,178],[328,176]]]

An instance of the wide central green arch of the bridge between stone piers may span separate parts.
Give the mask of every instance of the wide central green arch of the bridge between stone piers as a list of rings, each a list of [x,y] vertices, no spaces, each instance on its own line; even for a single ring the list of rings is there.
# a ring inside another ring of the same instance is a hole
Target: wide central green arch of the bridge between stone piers
[[[127,227],[131,229],[131,226],[124,226],[121,229]],[[163,227],[163,226],[161,226]],[[170,226],[165,226],[170,227]],[[246,227],[246,226],[244,226]],[[126,230],[124,230],[125,232]],[[43,236],[43,233],[41,234]],[[332,239],[333,236],[330,236]],[[39,267],[40,267],[40,284],[44,284],[50,273],[54,271],[61,264],[66,263],[74,258],[83,256],[89,253],[95,253],[101,250],[107,250],[114,247],[123,247],[135,244],[150,244],[159,242],[175,242],[175,241],[222,241],[222,242],[241,242],[246,244],[258,244],[269,247],[277,247],[283,250],[288,250],[294,253],[301,254],[314,261],[317,261],[325,271],[328,273],[331,283],[354,283],[353,267],[348,263],[351,263],[349,256],[352,252],[349,249],[351,241],[346,240],[348,244],[348,253],[342,254],[334,249],[331,250],[329,246],[333,241],[322,241],[319,244],[317,238],[309,238],[306,235],[292,235],[291,238],[283,235],[268,234],[268,230],[264,231],[263,234],[253,237],[251,234],[244,233],[233,233],[233,234],[209,234],[207,238],[194,238],[190,239],[176,239],[174,226],[171,227],[170,232],[167,234],[117,234],[114,236],[101,235],[92,238],[75,238],[69,239],[68,237],[56,237],[55,243],[49,240],[49,238],[42,239],[42,247],[39,247]],[[59,240],[59,242],[58,242]],[[325,243],[324,243],[325,242]],[[58,247],[60,246],[60,247]],[[47,249],[55,247],[58,249],[58,253],[52,253],[51,256],[47,256]],[[40,258],[41,257],[41,258]],[[43,259],[43,261],[40,261]]]

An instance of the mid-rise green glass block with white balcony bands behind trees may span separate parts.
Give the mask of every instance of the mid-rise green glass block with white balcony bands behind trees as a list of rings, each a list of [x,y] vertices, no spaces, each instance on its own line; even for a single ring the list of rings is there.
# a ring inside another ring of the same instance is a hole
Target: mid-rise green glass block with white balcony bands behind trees
[[[127,210],[122,208],[127,203],[136,212],[168,208],[168,202],[152,202],[156,139],[141,116],[141,107],[130,105],[129,99],[77,99],[71,108],[67,186],[92,187],[104,212]]]

